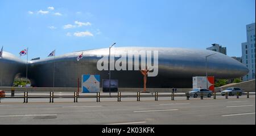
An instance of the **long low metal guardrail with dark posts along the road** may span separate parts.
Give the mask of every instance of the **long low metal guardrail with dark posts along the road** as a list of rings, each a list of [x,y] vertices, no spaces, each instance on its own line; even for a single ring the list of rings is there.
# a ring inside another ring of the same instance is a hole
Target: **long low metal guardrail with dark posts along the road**
[[[243,93],[244,95],[247,95],[247,98],[250,97],[250,93],[246,92]],[[239,99],[239,95],[237,93],[237,99]],[[204,95],[201,93],[199,94],[201,100],[204,99]],[[217,94],[216,92],[213,92],[213,99],[216,99],[216,96],[221,96],[221,94]],[[225,98],[228,99],[228,92],[225,94]],[[141,93],[137,92],[135,94],[134,92],[117,92],[117,94],[112,94],[111,96],[108,95],[108,93],[104,92],[97,92],[97,93],[89,93],[89,94],[79,94],[77,92],[15,92],[15,95],[13,92],[5,92],[5,99],[23,99],[23,103],[28,103],[28,99],[49,99],[49,103],[53,103],[54,99],[56,98],[72,98],[74,103],[77,103],[78,99],[82,98],[96,98],[97,102],[100,102],[101,98],[117,98],[117,101],[121,101],[121,98],[127,98],[127,97],[134,97],[137,98],[137,101],[141,101],[141,97],[154,97],[155,101],[158,101],[158,97],[171,97],[171,100],[175,100],[175,97],[187,97],[187,100],[191,97],[191,94],[189,92],[185,92],[182,94],[175,94],[174,92],[148,92],[148,93]],[[1,103],[1,99],[0,99]]]

